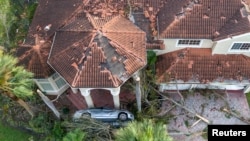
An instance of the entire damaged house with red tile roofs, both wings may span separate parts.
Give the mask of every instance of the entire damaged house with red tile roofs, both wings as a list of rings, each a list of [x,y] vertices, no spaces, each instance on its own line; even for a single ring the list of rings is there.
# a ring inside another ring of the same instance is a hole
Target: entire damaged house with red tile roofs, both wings
[[[47,94],[120,87],[158,55],[159,90],[250,90],[250,8],[242,0],[40,0],[17,56]],[[128,18],[126,18],[128,17]]]

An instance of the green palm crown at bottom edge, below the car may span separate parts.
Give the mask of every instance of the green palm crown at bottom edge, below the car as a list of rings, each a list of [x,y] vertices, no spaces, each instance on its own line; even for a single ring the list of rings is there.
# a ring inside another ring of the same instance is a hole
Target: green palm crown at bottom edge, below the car
[[[133,121],[115,133],[116,141],[172,141],[166,125],[151,119]]]

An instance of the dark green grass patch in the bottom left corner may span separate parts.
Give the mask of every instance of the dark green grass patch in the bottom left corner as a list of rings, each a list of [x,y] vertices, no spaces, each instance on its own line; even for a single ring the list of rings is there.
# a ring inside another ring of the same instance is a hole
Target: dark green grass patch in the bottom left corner
[[[0,141],[29,141],[31,137],[26,132],[5,126],[0,122]]]

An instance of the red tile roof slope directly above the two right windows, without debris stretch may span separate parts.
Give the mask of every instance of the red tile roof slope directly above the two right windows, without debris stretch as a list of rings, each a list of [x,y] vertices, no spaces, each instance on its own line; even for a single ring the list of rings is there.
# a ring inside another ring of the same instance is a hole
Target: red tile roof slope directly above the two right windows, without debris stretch
[[[158,12],[159,36],[216,39],[249,32],[242,7],[241,0],[167,0]]]

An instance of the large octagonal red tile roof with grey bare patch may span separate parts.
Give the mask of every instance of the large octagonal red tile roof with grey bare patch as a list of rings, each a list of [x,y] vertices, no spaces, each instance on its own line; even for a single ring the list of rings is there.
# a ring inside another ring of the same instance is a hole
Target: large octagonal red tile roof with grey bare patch
[[[48,63],[72,87],[119,87],[146,65],[146,35],[119,14],[79,11],[56,32]]]

